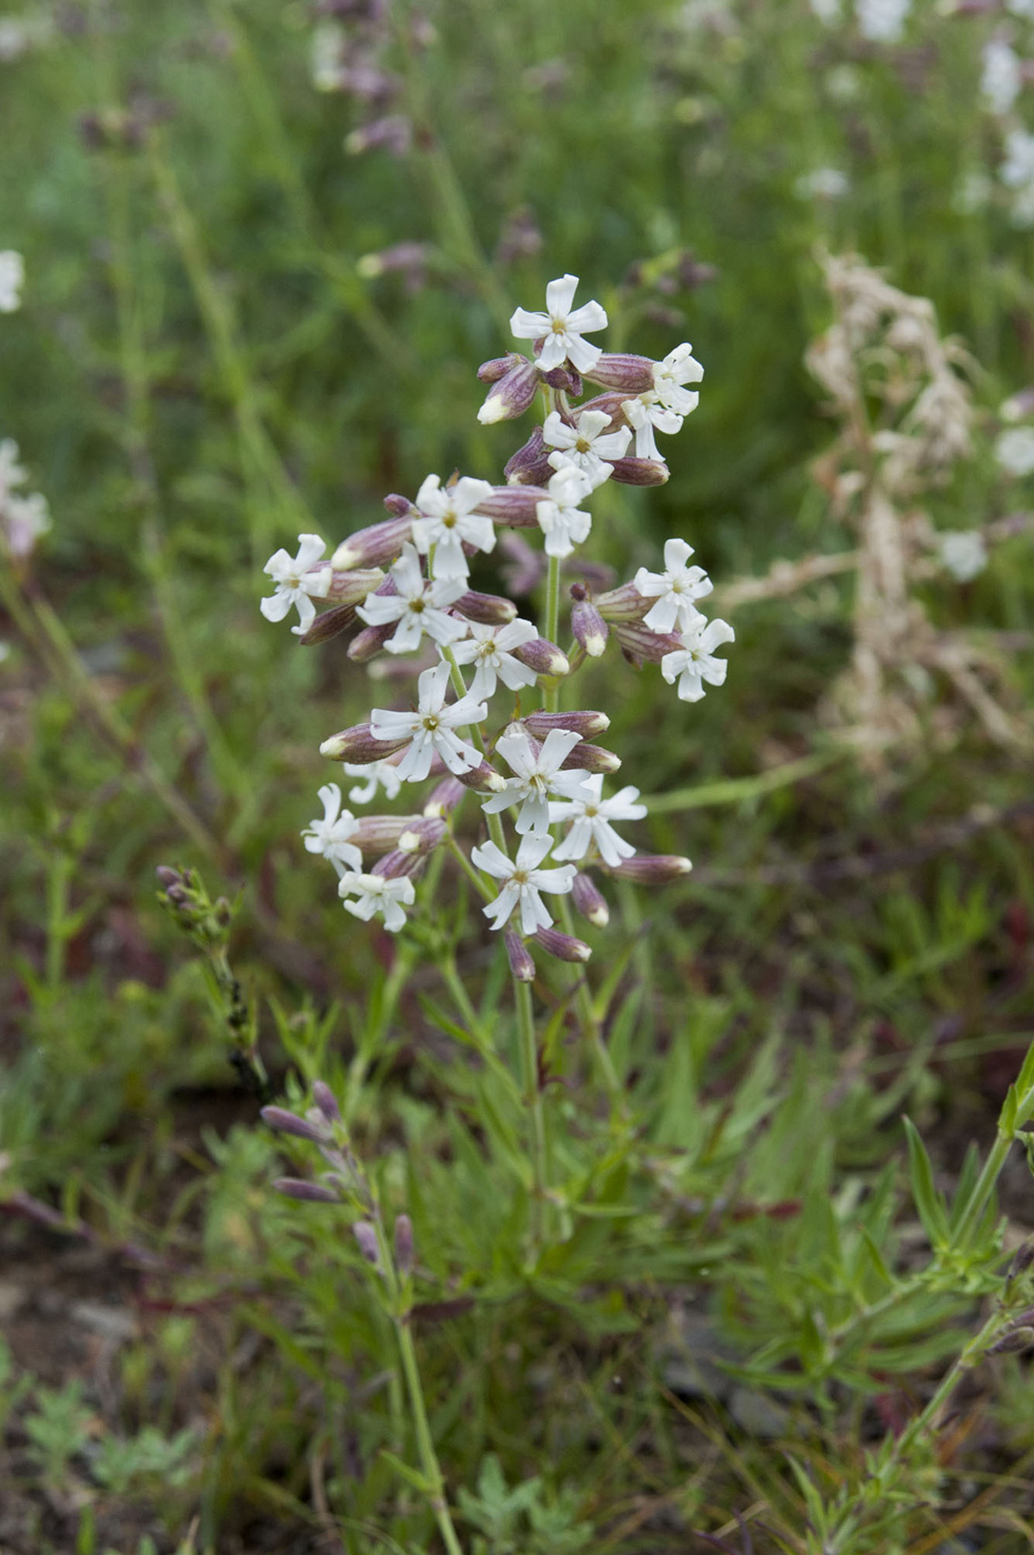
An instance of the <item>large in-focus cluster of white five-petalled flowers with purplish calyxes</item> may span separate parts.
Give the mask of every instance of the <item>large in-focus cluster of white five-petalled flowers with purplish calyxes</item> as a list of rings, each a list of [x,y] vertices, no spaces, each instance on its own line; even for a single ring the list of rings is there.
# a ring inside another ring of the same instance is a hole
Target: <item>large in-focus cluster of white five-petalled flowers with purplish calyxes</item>
[[[568,961],[589,955],[568,931],[566,903],[560,931],[544,897],[571,897],[599,927],[606,903],[594,872],[659,882],[689,869],[679,857],[638,857],[616,829],[642,819],[645,805],[634,787],[605,796],[605,778],[620,767],[596,743],[610,718],[558,711],[560,683],[599,658],[613,636],[625,659],[659,664],[678,695],[697,701],[704,684],[725,681],[715,650],[732,641],[725,620],[709,622],[698,610],[712,585],[690,564],[686,541],[665,543],[661,571],[639,568],[596,596],[599,569],[577,560],[592,529],[591,498],[603,482],[667,480],[656,434],[679,431],[703,378],[686,344],[662,361],[602,351],[586,336],[606,327],[606,313],[597,302],[575,308],[577,285],[564,275],[549,283],[544,311],[515,311],[512,330],[533,342],[530,358],[513,351],[479,372],[490,386],[482,423],[512,420],[544,400],[544,421],[507,463],[505,482],[429,474],[415,498],[386,498],[389,516],[345,538],[330,557],[320,536],[300,535],[297,555],[278,550],[266,564],[275,591],[261,602],[269,620],[297,611],[292,631],[302,644],[350,633],[347,653],[359,664],[379,655],[414,661],[409,706],[373,708],[367,722],[320,746],[348,778],[362,779],[348,790],[356,807],[381,790],[393,799],[412,784],[434,782],[403,815],[358,816],[337,784],[320,788],[323,815],[305,829],[305,846],[333,865],[347,911],[401,928],[417,877],[448,847],[485,897],[491,928],[505,930],[521,978],[535,972],[524,936]],[[599,392],[582,400],[586,379]],[[471,568],[487,564],[505,529],[541,535],[541,571],[529,568],[546,596],[541,625],[521,617],[510,599],[473,588]],[[569,585],[566,650],[552,641],[561,568],[578,574]],[[470,851],[456,832],[468,795],[488,830]]]

